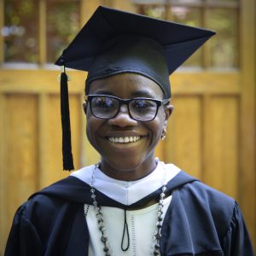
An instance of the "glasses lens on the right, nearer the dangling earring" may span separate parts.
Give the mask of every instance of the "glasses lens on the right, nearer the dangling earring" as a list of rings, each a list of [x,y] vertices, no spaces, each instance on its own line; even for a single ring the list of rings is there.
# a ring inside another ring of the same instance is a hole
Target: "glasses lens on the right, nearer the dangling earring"
[[[157,103],[148,99],[134,99],[129,104],[131,117],[141,121],[154,119]]]

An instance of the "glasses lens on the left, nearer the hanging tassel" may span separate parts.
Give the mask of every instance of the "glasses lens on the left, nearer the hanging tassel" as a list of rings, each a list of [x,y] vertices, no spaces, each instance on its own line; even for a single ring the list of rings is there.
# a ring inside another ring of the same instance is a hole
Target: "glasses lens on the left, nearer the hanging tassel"
[[[119,109],[119,102],[108,96],[95,96],[91,99],[92,113],[102,119],[111,119]]]

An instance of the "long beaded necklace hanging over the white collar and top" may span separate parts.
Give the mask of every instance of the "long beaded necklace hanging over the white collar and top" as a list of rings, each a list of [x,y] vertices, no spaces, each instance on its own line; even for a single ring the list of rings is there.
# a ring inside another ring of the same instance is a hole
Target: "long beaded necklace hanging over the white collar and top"
[[[94,211],[96,212],[96,219],[98,228],[101,232],[101,241],[103,245],[103,252],[105,253],[105,256],[112,256],[110,253],[110,247],[108,245],[108,235],[106,233],[106,228],[104,225],[103,215],[102,215],[102,209],[101,206],[99,206],[98,202],[96,201],[96,189],[94,188],[94,182],[95,182],[95,175],[96,175],[96,169],[100,166],[100,164],[96,164],[95,168],[91,175],[91,183],[90,183],[90,197],[92,198],[92,204],[94,206]],[[166,178],[163,183],[163,186],[161,188],[160,193],[160,201],[158,203],[158,211],[157,211],[157,218],[156,218],[156,224],[155,224],[155,230],[154,230],[154,237],[153,237],[153,244],[152,244],[152,255],[159,255],[160,254],[160,238],[161,238],[161,228],[163,223],[163,207],[164,207],[164,199],[166,197]],[[128,246],[129,247],[129,246]],[[126,248],[126,250],[128,249]]]

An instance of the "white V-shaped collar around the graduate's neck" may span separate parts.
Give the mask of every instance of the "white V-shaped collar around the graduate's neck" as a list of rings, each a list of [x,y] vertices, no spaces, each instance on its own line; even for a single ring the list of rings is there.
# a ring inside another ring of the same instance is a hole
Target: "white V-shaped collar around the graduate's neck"
[[[73,172],[71,176],[78,177],[84,183],[90,185],[94,169],[95,166],[84,167]],[[160,189],[165,180],[169,182],[178,172],[180,172],[180,169],[177,166],[166,165],[158,160],[158,165],[148,176],[137,181],[121,181],[108,177],[99,168],[96,168],[94,188],[113,200],[129,206]]]

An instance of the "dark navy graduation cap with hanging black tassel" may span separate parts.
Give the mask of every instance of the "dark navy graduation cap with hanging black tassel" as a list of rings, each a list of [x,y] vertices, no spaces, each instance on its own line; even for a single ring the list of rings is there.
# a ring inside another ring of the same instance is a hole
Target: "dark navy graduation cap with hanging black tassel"
[[[118,73],[139,73],[154,80],[171,97],[169,75],[215,32],[98,7],[55,62],[61,66],[63,169],[73,170],[67,74],[65,67],[88,72],[90,83]]]

